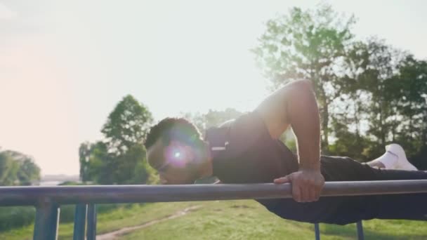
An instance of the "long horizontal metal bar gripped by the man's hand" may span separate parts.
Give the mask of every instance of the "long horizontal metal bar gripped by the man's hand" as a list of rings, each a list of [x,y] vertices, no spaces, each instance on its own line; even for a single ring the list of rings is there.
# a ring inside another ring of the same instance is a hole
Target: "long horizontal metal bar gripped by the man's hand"
[[[427,192],[427,180],[326,182],[321,196],[421,192]],[[113,204],[289,197],[291,197],[290,184],[277,185],[272,183],[243,185],[0,187],[0,206],[34,205],[46,198],[58,204]]]

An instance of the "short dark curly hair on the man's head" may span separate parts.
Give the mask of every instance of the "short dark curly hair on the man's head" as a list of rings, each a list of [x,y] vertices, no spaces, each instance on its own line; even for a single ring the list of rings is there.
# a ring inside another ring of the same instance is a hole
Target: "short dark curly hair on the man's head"
[[[165,146],[169,145],[171,140],[177,140],[197,147],[201,142],[201,134],[197,127],[187,119],[167,117],[150,128],[144,143],[145,148],[148,149],[159,139],[162,139]]]

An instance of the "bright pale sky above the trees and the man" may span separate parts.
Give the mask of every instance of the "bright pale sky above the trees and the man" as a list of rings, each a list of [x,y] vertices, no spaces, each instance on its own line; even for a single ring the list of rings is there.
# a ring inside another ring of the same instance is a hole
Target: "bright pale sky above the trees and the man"
[[[0,147],[78,174],[80,143],[126,94],[157,120],[253,109],[268,93],[249,53],[263,22],[318,2],[0,0]],[[356,15],[357,36],[427,58],[427,1],[327,2]]]

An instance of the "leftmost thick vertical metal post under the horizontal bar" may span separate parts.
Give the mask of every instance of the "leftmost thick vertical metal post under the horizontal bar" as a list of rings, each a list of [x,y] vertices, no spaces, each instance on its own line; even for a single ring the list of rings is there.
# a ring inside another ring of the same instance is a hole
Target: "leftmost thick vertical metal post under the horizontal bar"
[[[58,237],[60,209],[50,200],[38,204],[34,223],[34,240],[55,240]]]

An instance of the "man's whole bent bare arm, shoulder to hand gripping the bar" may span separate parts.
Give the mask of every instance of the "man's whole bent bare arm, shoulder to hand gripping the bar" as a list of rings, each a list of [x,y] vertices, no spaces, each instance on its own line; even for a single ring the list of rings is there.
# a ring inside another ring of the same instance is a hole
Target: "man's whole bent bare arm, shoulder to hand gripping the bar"
[[[272,138],[291,126],[298,143],[299,170],[275,183],[291,182],[295,201],[317,201],[324,185],[320,173],[320,120],[310,81],[294,81],[268,96],[256,108]]]

